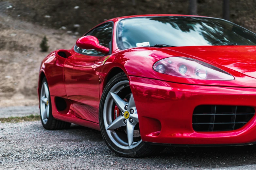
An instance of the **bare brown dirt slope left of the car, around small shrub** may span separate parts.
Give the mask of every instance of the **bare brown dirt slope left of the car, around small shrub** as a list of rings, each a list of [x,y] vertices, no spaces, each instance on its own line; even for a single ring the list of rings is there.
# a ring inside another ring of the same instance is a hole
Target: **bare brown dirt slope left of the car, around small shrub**
[[[77,37],[0,14],[0,107],[36,105],[41,61],[49,52],[40,52],[46,35],[49,51],[70,49]]]

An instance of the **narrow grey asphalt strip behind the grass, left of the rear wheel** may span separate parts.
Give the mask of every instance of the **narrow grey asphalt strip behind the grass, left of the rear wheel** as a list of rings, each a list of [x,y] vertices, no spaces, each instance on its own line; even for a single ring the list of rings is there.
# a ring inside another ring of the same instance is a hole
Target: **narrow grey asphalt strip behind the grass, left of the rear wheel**
[[[0,107],[0,118],[22,117],[28,115],[40,115],[39,107],[37,106],[9,106]]]

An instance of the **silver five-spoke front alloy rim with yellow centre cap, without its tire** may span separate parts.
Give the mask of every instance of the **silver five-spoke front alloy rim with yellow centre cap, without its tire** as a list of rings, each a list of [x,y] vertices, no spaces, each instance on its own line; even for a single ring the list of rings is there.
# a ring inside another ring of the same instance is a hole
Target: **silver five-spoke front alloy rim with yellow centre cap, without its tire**
[[[128,96],[127,101],[123,99]],[[121,114],[114,117],[114,107],[117,106]],[[133,149],[141,142],[139,120],[129,81],[116,83],[109,91],[103,109],[103,119],[106,132],[111,141],[121,149]]]

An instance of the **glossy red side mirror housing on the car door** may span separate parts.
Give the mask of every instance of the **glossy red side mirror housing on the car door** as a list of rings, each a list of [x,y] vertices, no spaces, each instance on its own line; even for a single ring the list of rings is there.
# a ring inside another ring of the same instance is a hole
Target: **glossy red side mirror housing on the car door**
[[[99,44],[98,38],[95,36],[87,35],[87,36],[82,36],[77,40],[77,47],[81,49],[94,49],[100,52],[103,52],[104,54],[109,53],[109,48],[104,47]]]

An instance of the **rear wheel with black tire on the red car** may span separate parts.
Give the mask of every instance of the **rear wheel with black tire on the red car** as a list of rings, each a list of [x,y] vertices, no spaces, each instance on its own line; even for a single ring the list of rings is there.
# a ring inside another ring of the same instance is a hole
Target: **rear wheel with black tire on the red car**
[[[47,83],[47,80],[46,80],[45,77],[42,80],[40,88],[41,88],[41,91],[40,91],[40,102],[39,102],[40,103],[40,117],[41,117],[41,122],[42,122],[43,127],[45,129],[47,129],[47,130],[60,130],[60,129],[67,129],[67,128],[69,128],[71,123],[64,122],[64,121],[61,121],[61,120],[56,120],[52,116],[52,106],[51,106],[52,102],[51,102],[51,97],[50,97],[50,91],[49,91],[48,83]],[[45,91],[47,91],[47,90],[48,90],[48,97],[46,97],[46,94],[45,94]],[[43,95],[42,93],[43,92],[45,94],[44,95],[45,98],[47,98],[47,104],[43,103],[43,100],[42,100],[42,95]],[[47,106],[49,108],[47,108]],[[43,117],[43,115],[44,115],[43,107],[45,107],[45,110],[46,110],[46,108],[48,109],[48,113],[47,113],[46,117]],[[43,118],[45,118],[45,119],[43,119]]]

